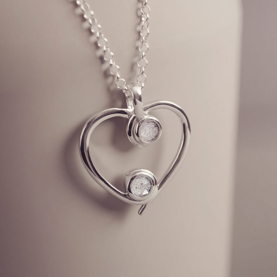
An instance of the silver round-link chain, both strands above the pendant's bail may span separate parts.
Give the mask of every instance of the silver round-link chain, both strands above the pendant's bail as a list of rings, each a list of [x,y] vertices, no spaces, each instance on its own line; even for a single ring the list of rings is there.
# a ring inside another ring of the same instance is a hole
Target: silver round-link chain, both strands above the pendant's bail
[[[149,35],[149,12],[150,8],[147,5],[147,0],[141,0],[142,6],[140,7],[140,45],[138,47],[140,57],[137,61],[137,66],[140,69],[139,74],[136,77],[137,86],[143,88],[144,83],[146,82],[146,75],[144,73],[145,67],[148,62],[145,59],[145,54],[148,50],[148,35]],[[104,34],[101,32],[101,26],[98,24],[96,18],[94,17],[94,12],[91,10],[89,4],[86,0],[76,0],[76,4],[81,9],[81,14],[84,19],[88,22],[91,32],[96,37],[96,42],[99,48],[103,51],[103,59],[109,63],[109,72],[114,77],[115,85],[118,89],[121,89],[124,93],[127,92],[127,84],[124,79],[120,77],[119,66],[116,65],[114,61],[114,54],[110,51],[110,48],[107,46],[108,40],[104,37]]]

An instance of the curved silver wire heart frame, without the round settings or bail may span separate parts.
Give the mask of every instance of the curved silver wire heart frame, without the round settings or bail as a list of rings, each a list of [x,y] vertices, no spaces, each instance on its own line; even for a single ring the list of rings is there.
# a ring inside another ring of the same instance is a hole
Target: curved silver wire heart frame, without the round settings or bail
[[[168,182],[173,178],[175,173],[178,171],[179,167],[181,166],[186,156],[186,153],[188,152],[189,141],[190,141],[190,124],[189,124],[188,117],[186,116],[183,109],[178,105],[176,105],[175,103],[172,103],[169,101],[157,101],[157,102],[150,102],[143,107],[143,110],[147,113],[155,109],[168,109],[170,111],[175,112],[175,114],[181,120],[181,126],[182,126],[181,142],[180,142],[178,151],[175,155],[175,158],[173,159],[170,166],[166,170],[165,174],[160,178],[157,184],[158,193],[160,193],[161,189],[164,188],[166,184],[168,184]],[[124,193],[119,189],[117,189],[116,187],[114,187],[99,173],[99,171],[94,166],[94,163],[89,153],[90,136],[93,130],[101,122],[116,116],[129,119],[131,114],[132,114],[131,109],[111,108],[111,109],[104,110],[89,118],[86,124],[84,125],[84,128],[81,133],[79,150],[80,150],[80,155],[83,160],[84,166],[88,170],[91,177],[102,188],[104,188],[106,191],[116,196],[120,200],[134,205],[142,205],[139,209],[139,214],[142,215],[146,207],[149,205],[148,203],[152,202],[157,197],[158,193],[155,194],[155,196],[153,196],[152,198],[150,197],[141,201],[137,201],[130,198],[130,196],[127,193]]]

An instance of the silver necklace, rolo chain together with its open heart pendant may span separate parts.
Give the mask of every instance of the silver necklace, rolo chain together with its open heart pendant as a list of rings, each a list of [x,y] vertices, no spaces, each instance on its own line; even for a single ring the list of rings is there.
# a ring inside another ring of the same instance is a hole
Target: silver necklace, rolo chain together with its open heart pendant
[[[107,39],[101,32],[101,26],[94,17],[94,12],[91,10],[86,0],[76,0],[79,6],[81,15],[89,25],[91,32],[96,38],[98,47],[102,50],[104,61],[109,64],[109,72],[114,76],[115,85],[120,89],[126,97],[127,108],[111,108],[99,112],[88,119],[81,133],[79,151],[83,160],[84,166],[88,170],[91,177],[106,191],[130,204],[141,205],[139,214],[143,214],[146,207],[149,206],[161,190],[168,184],[170,179],[181,166],[185,155],[188,151],[190,140],[190,125],[188,117],[183,109],[178,105],[168,101],[150,102],[143,106],[142,104],[142,89],[146,81],[145,68],[148,64],[145,59],[145,54],[148,50],[148,35],[149,35],[149,12],[150,8],[147,5],[147,0],[142,0],[140,7],[140,45],[138,47],[140,57],[137,66],[140,69],[136,77],[135,83],[127,84],[120,77],[119,66],[114,62],[114,55],[107,46]],[[155,175],[146,169],[132,169],[126,173],[124,180],[125,191],[120,191],[111,183],[109,183],[96,169],[93,158],[89,152],[89,140],[93,130],[104,120],[112,117],[123,117],[127,120],[126,133],[131,143],[137,146],[145,147],[155,143],[161,136],[162,127],[159,120],[151,116],[150,112],[155,109],[168,109],[173,111],[181,121],[181,142],[175,158],[164,175],[157,180]]]

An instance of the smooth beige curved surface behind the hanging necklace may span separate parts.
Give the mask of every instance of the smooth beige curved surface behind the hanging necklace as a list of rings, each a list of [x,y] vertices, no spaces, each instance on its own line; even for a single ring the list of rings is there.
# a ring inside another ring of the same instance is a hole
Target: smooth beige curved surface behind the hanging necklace
[[[122,76],[129,78],[137,2],[89,3]],[[229,275],[240,5],[233,0],[149,5],[143,99],[182,106],[192,139],[181,170],[139,217],[137,206],[87,178],[78,155],[87,118],[121,107],[124,99],[109,92],[73,4],[2,3],[1,276]],[[169,113],[154,115],[164,131],[151,148],[133,147],[122,120],[94,134],[97,165],[117,186],[132,167],[160,176],[173,158],[178,121]]]

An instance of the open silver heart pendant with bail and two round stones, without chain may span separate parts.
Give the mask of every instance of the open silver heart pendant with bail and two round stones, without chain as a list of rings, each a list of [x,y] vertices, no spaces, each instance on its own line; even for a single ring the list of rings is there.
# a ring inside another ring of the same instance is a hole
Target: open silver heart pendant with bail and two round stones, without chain
[[[142,205],[139,214],[160,193],[181,166],[188,151],[190,140],[190,125],[183,109],[168,101],[151,102],[142,105],[141,89],[135,85],[128,86],[126,94],[127,109],[112,108],[92,116],[84,125],[80,138],[80,154],[83,163],[93,179],[106,191],[130,204]],[[127,121],[127,136],[130,142],[138,146],[148,146],[157,141],[161,135],[161,124],[157,118],[150,116],[149,112],[155,109],[168,109],[181,120],[181,143],[175,158],[165,174],[157,181],[155,175],[149,170],[133,169],[126,173],[124,180],[125,192],[120,191],[109,183],[96,169],[89,153],[89,139],[93,130],[101,122],[111,117],[124,117]]]

